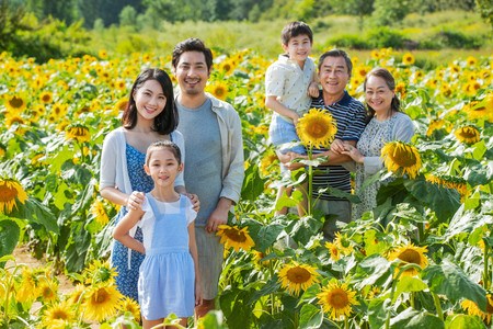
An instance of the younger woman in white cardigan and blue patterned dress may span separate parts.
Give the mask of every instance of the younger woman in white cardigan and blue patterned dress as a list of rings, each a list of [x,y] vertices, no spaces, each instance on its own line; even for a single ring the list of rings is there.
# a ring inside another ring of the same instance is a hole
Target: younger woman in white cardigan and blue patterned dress
[[[101,195],[123,207],[116,223],[127,213],[144,204],[144,193],[150,192],[153,182],[144,171],[147,148],[158,140],[171,140],[182,151],[184,162],[184,140],[176,132],[177,111],[174,103],[173,84],[168,73],[161,69],[146,69],[131,87],[127,109],[122,116],[122,127],[111,132],[103,143],[100,171]],[[183,172],[176,178],[175,190],[186,194]],[[188,195],[198,209],[196,195]],[[142,240],[140,228],[130,235]],[[138,269],[144,254],[114,241],[112,265],[118,273],[116,285],[125,296],[138,300]]]

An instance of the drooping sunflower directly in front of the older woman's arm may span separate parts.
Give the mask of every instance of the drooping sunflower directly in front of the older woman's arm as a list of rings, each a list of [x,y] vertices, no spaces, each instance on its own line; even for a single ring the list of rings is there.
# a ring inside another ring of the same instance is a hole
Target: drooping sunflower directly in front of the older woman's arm
[[[417,149],[404,141],[387,143],[381,149],[381,157],[385,158],[385,164],[388,170],[398,172],[402,170],[402,174],[408,173],[414,179],[420,171],[422,161]]]

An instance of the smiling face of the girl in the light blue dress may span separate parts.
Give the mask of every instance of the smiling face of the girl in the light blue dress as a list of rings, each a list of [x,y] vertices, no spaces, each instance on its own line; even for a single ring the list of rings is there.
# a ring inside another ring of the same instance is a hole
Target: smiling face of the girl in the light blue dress
[[[179,163],[176,156],[169,148],[153,149],[148,163],[144,168],[152,178],[154,186],[174,188],[174,180],[182,172],[183,163]]]

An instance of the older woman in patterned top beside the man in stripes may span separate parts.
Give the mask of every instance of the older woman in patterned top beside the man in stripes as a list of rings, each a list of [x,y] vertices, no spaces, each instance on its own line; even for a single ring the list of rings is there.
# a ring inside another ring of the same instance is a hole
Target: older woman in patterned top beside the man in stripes
[[[348,155],[356,162],[356,194],[360,204],[353,205],[353,219],[362,218],[366,212],[377,206],[377,192],[380,183],[367,186],[359,192],[363,182],[383,167],[380,159],[385,143],[411,141],[414,127],[411,118],[400,111],[400,101],[395,95],[395,80],[381,67],[372,69],[364,82],[368,125],[357,143],[356,148],[345,145],[342,154]]]

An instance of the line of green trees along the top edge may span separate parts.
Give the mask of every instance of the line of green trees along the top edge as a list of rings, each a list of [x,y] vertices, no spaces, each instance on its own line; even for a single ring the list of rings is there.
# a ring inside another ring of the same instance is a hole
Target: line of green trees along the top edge
[[[55,18],[66,24],[83,21],[85,29],[119,25],[159,26],[161,21],[262,21],[274,18],[310,21],[330,14],[375,16],[392,24],[411,12],[450,9],[492,15],[493,0],[3,0],[38,20]],[[485,12],[485,13],[483,13]]]

